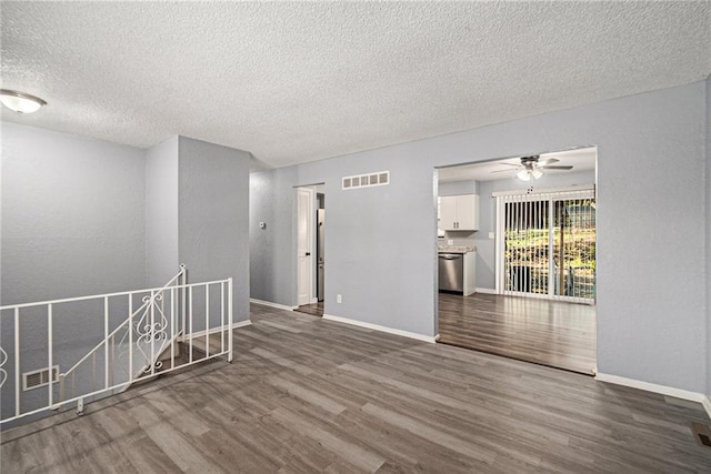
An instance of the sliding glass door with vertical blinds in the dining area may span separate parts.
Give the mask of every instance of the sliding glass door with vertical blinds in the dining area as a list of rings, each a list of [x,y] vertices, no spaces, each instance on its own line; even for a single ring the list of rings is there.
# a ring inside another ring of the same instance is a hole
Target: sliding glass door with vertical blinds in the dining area
[[[594,189],[495,198],[498,292],[593,303]]]

